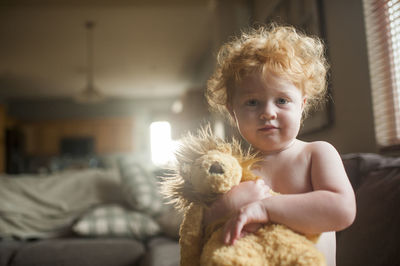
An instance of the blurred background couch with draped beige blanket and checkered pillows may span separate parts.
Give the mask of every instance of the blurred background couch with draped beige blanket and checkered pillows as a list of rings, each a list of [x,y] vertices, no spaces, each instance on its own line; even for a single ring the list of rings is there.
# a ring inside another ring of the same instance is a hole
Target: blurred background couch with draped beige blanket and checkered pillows
[[[157,172],[117,161],[0,176],[0,266],[179,265],[182,217],[159,194]]]

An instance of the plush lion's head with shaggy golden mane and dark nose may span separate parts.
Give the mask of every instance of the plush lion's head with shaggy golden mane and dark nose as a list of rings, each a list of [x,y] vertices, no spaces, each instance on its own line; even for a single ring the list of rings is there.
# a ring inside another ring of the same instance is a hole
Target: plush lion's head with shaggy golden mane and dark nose
[[[249,168],[255,157],[244,153],[238,141],[228,143],[206,126],[181,140],[176,161],[173,176],[164,182],[164,194],[183,209],[191,202],[209,205],[243,176],[252,176]]]

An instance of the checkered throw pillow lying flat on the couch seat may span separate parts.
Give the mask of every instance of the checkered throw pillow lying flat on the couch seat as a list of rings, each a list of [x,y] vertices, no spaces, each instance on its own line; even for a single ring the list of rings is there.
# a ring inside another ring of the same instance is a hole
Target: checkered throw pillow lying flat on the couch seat
[[[81,217],[73,226],[81,236],[134,237],[145,240],[160,233],[160,226],[150,216],[119,205],[99,206]]]

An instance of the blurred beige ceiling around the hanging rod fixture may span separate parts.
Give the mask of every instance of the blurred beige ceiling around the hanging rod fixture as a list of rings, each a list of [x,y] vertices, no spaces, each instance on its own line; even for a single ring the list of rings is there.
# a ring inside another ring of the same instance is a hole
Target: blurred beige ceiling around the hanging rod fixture
[[[94,84],[106,96],[177,96],[204,87],[221,35],[215,3],[0,0],[0,101],[82,91],[89,20]]]

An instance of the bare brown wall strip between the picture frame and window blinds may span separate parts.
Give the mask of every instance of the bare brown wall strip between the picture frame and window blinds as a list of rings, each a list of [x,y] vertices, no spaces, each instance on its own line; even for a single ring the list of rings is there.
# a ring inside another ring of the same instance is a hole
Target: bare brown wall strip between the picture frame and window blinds
[[[327,140],[341,153],[376,152],[362,1],[323,4],[334,123],[306,139]]]

